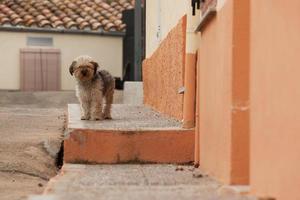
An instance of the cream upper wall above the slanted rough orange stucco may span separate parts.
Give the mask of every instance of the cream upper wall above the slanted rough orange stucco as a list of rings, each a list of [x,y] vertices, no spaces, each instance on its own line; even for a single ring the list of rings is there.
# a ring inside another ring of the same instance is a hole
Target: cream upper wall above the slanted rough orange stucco
[[[190,0],[146,1],[146,57],[149,58],[178,21],[187,15],[186,52],[195,53],[199,37],[194,32],[200,21],[200,11],[192,16]]]

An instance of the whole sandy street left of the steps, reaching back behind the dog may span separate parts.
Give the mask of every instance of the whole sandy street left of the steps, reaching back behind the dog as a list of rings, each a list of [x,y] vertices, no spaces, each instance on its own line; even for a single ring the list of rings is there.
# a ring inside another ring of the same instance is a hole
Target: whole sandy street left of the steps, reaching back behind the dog
[[[68,103],[74,91],[0,91],[0,199],[41,194],[58,172]],[[116,91],[114,103],[122,103]]]

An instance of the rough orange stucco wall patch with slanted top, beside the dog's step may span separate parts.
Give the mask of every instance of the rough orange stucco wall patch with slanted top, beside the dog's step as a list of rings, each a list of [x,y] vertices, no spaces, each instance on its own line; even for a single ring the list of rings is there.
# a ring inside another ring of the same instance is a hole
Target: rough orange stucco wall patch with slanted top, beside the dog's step
[[[143,61],[144,103],[181,120],[184,85],[186,16],[162,41],[151,57]]]

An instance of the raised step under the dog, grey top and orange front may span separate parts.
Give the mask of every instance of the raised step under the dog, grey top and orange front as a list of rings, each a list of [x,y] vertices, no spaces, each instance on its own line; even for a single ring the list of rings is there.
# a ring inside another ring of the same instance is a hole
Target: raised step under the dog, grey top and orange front
[[[80,120],[78,104],[68,105],[64,140],[66,163],[188,163],[194,130],[145,106],[114,104],[112,120]]]

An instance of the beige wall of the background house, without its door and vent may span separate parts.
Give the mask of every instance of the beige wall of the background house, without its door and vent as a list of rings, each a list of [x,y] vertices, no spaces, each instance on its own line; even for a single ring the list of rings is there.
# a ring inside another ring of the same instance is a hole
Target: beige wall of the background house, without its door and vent
[[[27,46],[28,36],[52,37],[52,47]],[[69,65],[79,55],[90,55],[114,76],[122,76],[122,38],[92,35],[0,32],[0,89],[20,89],[21,48],[55,48],[61,50],[61,89],[74,89]]]

